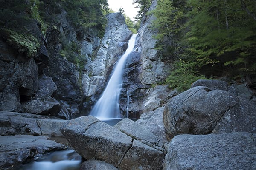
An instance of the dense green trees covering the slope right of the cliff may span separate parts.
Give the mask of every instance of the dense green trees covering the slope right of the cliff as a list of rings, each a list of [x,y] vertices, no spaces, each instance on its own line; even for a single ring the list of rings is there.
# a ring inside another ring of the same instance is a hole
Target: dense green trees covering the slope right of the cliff
[[[189,87],[198,78],[227,76],[246,78],[255,88],[255,5],[252,0],[158,0],[156,48],[163,59],[175,61],[166,82],[180,88],[175,81],[180,77]]]

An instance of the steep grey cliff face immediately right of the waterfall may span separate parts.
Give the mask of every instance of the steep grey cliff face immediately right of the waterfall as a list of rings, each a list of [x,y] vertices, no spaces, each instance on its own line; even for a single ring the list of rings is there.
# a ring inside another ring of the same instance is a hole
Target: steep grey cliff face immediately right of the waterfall
[[[153,0],[149,11],[156,6],[157,0]],[[157,34],[157,30],[151,29],[151,24],[155,19],[153,14],[142,18],[134,52],[127,59],[120,106],[123,114],[128,108],[131,119],[138,119],[142,113],[163,106],[169,97],[169,89],[158,85],[169,75],[170,62],[161,60],[159,51],[154,48],[157,40],[152,36]]]

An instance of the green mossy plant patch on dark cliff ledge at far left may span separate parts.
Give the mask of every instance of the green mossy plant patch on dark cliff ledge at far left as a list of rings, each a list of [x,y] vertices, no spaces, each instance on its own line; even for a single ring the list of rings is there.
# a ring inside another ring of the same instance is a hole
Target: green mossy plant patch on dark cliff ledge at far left
[[[9,29],[1,29],[6,42],[18,50],[19,53],[26,53],[27,57],[35,56],[40,44],[33,35],[22,34]]]

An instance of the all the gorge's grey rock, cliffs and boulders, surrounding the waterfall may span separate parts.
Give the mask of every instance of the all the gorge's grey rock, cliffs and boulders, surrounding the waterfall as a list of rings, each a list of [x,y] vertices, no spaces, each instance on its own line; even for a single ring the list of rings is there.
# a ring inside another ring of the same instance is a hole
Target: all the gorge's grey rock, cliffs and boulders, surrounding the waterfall
[[[120,109],[128,118],[110,126],[87,115],[128,47],[123,15],[107,15],[102,38],[78,34],[61,7],[55,17],[45,36],[35,20],[23,23],[38,40],[32,54],[1,28],[0,169],[67,148],[83,158],[80,170],[256,168],[256,96],[245,83],[200,79],[182,93],[161,85],[172,63],[154,48],[148,14],[124,71]],[[59,53],[67,32],[87,59],[82,68]]]

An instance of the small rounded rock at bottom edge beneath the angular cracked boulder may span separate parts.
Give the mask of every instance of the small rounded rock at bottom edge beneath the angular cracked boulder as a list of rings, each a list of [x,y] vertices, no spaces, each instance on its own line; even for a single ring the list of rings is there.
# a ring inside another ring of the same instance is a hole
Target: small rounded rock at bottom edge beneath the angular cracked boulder
[[[113,165],[107,164],[103,161],[90,159],[81,164],[80,170],[117,170],[117,169]]]

